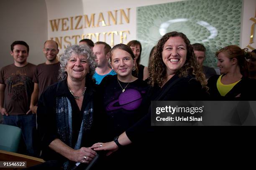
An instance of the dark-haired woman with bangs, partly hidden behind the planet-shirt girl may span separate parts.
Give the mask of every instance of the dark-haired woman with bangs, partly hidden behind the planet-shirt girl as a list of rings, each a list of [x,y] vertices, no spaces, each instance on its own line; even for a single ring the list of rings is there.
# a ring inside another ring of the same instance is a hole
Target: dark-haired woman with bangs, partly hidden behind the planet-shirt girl
[[[135,55],[136,65],[138,68],[138,78],[141,80],[146,80],[148,78],[148,67],[145,67],[144,65],[140,64],[141,51],[142,51],[141,42],[139,42],[137,40],[132,40],[132,41],[128,42],[127,46],[133,50],[133,53]],[[134,72],[133,72],[133,74],[134,74]]]

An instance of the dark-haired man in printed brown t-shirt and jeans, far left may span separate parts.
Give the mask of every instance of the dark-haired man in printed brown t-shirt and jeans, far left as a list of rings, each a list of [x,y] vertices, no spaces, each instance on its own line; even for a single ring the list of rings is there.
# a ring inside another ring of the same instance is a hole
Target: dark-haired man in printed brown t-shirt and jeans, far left
[[[21,128],[27,154],[36,156],[36,115],[29,109],[36,65],[27,62],[28,52],[28,44],[24,41],[11,45],[14,64],[0,71],[0,112],[4,124]]]

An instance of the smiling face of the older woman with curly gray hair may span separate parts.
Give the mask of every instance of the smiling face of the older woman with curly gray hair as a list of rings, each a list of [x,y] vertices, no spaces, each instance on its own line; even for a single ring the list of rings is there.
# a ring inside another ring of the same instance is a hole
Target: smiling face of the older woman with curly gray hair
[[[86,56],[72,53],[65,70],[68,75],[67,79],[83,80],[89,72],[89,64],[87,63]]]

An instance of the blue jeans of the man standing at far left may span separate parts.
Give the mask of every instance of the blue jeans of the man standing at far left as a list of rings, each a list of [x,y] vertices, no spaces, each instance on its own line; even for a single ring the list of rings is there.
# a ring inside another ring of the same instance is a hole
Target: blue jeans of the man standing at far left
[[[36,133],[36,114],[31,115],[9,115],[3,116],[5,125],[19,127],[27,147],[27,154],[38,156],[37,153],[37,133]],[[11,135],[11,134],[10,134]]]

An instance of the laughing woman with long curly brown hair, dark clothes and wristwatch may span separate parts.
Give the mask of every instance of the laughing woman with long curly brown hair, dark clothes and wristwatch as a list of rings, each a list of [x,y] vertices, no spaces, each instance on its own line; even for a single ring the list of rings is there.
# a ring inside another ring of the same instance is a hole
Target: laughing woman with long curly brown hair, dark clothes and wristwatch
[[[159,40],[149,71],[149,82],[152,86],[151,92],[148,93],[149,100],[207,99],[205,76],[197,65],[193,47],[186,35],[181,32],[169,32]],[[145,154],[146,158],[153,157],[152,159],[155,160],[161,159],[164,150],[170,149],[166,140],[168,137],[172,138],[172,151],[179,150],[177,153],[182,153],[185,148],[176,148],[176,145],[182,146],[185,142],[194,143],[190,140],[194,135],[189,133],[192,130],[187,131],[186,128],[186,131],[183,131],[184,128],[179,127],[151,127],[151,107],[148,109],[144,107],[144,112],[147,112],[147,115],[128,128],[118,139],[103,144],[96,143],[92,148],[109,150],[109,155],[123,145],[143,143],[141,149],[144,147],[148,149],[144,150],[148,153]]]

